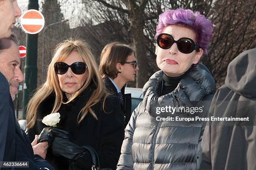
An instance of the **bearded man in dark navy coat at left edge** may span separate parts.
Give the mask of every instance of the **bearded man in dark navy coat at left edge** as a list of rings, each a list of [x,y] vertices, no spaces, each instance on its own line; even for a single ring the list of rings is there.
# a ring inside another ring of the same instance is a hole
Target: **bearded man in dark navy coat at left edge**
[[[36,136],[35,140],[32,142],[32,147],[27,135],[20,129],[18,121],[15,118],[12,100],[15,99],[18,84],[23,81],[17,43],[17,38],[13,34],[10,38],[0,39],[0,72],[5,76],[10,88],[10,92],[0,91],[0,105],[2,105],[3,102],[5,106],[8,106],[8,109],[5,109],[5,111],[0,110],[1,118],[7,122],[6,126],[0,129],[1,137],[5,136],[5,138],[1,138],[3,161],[28,161],[30,169],[42,169],[45,167],[52,169],[49,163],[44,160],[48,143],[42,142],[37,144],[38,137]],[[6,80],[2,80],[6,82]],[[3,87],[1,85],[2,84],[0,84],[0,88]],[[2,105],[1,108],[5,106]],[[2,144],[4,148],[2,148]]]

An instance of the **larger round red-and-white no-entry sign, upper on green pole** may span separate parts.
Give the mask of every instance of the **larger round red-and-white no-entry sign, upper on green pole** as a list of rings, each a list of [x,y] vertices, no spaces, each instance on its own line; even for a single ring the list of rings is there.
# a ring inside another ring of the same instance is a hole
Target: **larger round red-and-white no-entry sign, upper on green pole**
[[[26,33],[36,34],[44,28],[44,16],[38,10],[27,10],[21,16],[20,24]]]

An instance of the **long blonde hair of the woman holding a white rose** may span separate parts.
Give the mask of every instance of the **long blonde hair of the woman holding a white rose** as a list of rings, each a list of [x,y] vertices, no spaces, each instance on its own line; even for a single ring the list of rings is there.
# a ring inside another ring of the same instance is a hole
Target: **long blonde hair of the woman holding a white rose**
[[[64,103],[62,96],[63,94],[59,86],[59,79],[54,71],[54,63],[58,61],[64,61],[72,51],[76,51],[81,57],[82,61],[86,63],[88,76],[82,88],[79,89],[76,93],[74,93],[68,99],[68,101]],[[33,95],[33,97],[28,103],[26,117],[28,124],[26,128],[30,129],[35,125],[37,114],[36,111],[39,104],[41,103],[41,101],[50,96],[52,92],[55,92],[56,95],[54,107],[51,111],[51,113],[54,113],[60,109],[61,104],[67,104],[72,102],[79,94],[82,93],[82,91],[84,91],[84,89],[86,89],[89,86],[91,81],[94,81],[94,83],[97,86],[97,89],[93,91],[92,95],[90,96],[90,99],[79,112],[79,115],[77,117],[78,124],[81,123],[81,121],[84,119],[88,112],[90,112],[92,116],[95,117],[95,119],[97,119],[96,114],[92,110],[92,106],[100,102],[100,100],[103,98],[104,106],[105,99],[108,96],[108,93],[106,92],[105,84],[100,76],[100,72],[98,71],[95,58],[92,56],[92,53],[89,50],[87,43],[85,43],[82,40],[74,40],[72,38],[63,41],[62,43],[59,43],[56,49],[54,50],[53,58],[48,66],[46,82],[42,84],[40,87],[38,87],[36,93]]]

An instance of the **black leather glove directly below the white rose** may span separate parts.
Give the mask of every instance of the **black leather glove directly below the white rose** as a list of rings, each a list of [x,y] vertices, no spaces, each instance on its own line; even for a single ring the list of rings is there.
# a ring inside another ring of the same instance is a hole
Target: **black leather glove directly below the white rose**
[[[48,145],[50,146],[55,136],[69,138],[69,132],[57,129],[55,127],[45,127],[39,134],[37,143],[48,142]]]

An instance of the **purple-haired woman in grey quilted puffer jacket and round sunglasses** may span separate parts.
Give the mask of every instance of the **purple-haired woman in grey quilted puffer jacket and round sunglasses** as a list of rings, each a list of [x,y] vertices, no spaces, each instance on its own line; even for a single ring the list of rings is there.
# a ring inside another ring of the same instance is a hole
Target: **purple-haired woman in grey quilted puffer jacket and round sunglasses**
[[[212,31],[213,24],[199,12],[177,9],[159,15],[155,38],[161,70],[143,87],[144,99],[125,129],[118,170],[199,168],[215,91],[210,71],[199,62],[207,55]]]

